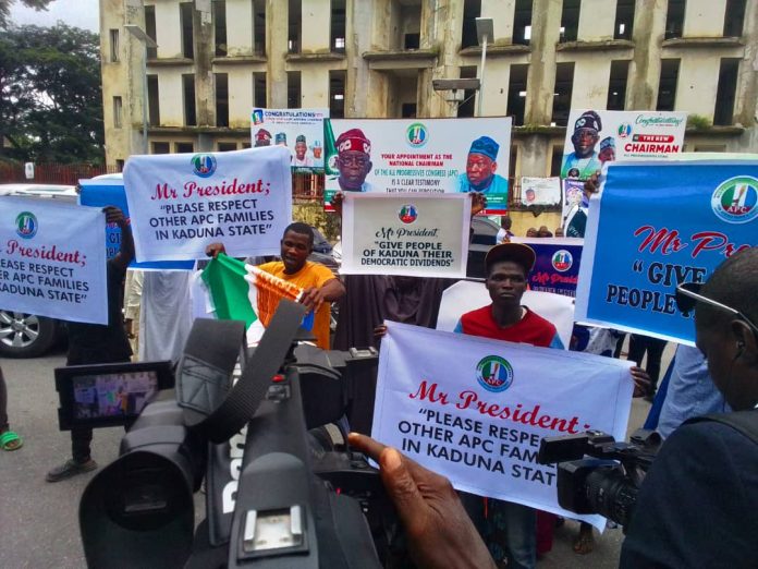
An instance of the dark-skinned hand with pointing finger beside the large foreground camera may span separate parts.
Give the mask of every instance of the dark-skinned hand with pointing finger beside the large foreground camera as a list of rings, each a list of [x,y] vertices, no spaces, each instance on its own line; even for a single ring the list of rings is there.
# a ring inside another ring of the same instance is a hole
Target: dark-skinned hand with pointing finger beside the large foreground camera
[[[448,479],[370,437],[351,433],[350,444],[379,463],[418,567],[496,567]]]

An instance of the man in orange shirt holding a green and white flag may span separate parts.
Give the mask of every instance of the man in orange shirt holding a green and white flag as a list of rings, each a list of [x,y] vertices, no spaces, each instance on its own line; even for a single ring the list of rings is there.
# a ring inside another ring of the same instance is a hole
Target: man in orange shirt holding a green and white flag
[[[281,240],[281,261],[259,265],[258,268],[303,289],[299,302],[315,311],[313,332],[319,348],[329,349],[330,307],[345,288],[328,267],[308,261],[314,249],[314,232],[302,222],[290,223]],[[206,254],[216,257],[224,253],[222,243],[211,243]]]

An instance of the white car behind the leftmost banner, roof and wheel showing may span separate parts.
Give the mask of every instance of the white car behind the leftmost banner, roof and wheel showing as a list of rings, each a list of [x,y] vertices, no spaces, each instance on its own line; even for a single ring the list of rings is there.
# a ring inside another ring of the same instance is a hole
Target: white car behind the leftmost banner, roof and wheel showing
[[[60,184],[0,184],[0,196],[5,195],[75,203],[76,187]],[[0,356],[41,355],[56,342],[61,330],[61,323],[53,318],[0,310]]]

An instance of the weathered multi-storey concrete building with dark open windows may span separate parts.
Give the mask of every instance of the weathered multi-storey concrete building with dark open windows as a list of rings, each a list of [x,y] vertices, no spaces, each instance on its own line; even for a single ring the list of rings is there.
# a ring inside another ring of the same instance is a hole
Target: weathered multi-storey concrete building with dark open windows
[[[480,76],[478,16],[482,87],[450,101],[432,80]],[[100,31],[109,165],[248,147],[254,107],[472,117],[479,97],[514,118],[515,180],[557,175],[571,108],[686,111],[685,150],[758,152],[756,0],[100,0]]]

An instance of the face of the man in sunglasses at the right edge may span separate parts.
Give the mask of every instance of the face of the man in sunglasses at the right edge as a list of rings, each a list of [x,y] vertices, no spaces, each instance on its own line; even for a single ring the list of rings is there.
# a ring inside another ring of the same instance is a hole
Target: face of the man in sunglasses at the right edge
[[[734,411],[743,411],[758,402],[758,353],[751,331],[735,336],[735,327],[746,328],[742,320],[728,317],[699,326],[695,317],[696,344],[708,361],[713,384]]]

